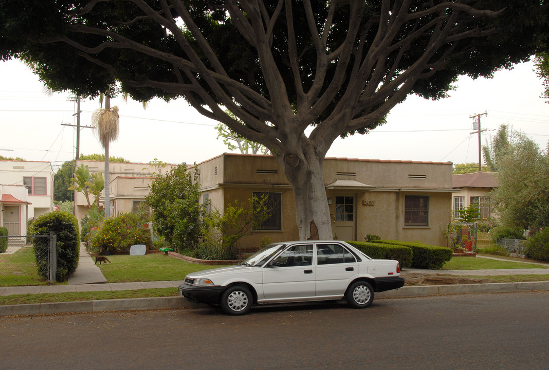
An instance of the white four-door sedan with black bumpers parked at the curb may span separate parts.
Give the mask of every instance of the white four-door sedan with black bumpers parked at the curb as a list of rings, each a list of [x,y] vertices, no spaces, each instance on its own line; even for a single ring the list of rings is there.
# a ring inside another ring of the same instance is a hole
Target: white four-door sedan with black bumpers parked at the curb
[[[179,293],[244,315],[253,304],[342,298],[362,309],[374,291],[403,286],[398,261],[372,259],[345,242],[306,240],[273,243],[237,266],[190,273]]]

